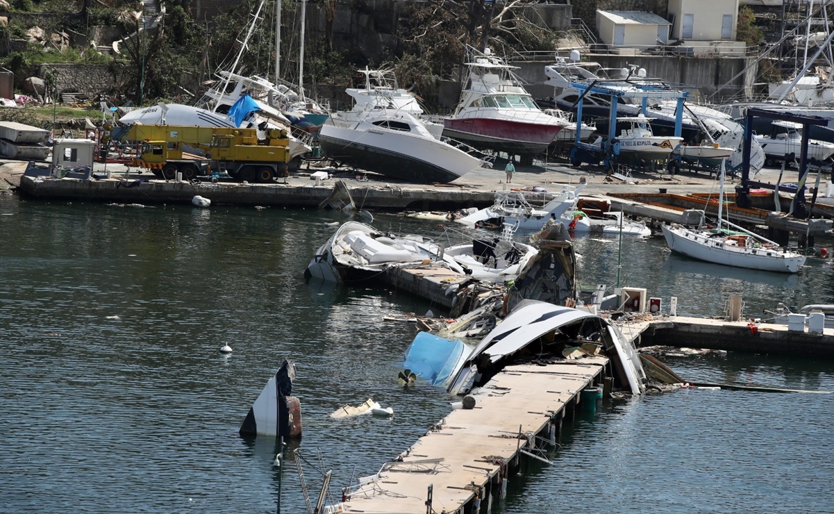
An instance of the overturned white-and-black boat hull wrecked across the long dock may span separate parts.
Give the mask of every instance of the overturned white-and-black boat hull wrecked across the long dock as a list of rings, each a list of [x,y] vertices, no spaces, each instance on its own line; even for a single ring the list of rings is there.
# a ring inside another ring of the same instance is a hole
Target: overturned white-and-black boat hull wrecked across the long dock
[[[519,361],[560,359],[565,348],[583,343],[599,345],[615,370],[615,386],[640,395],[646,391],[646,374],[634,343],[616,325],[585,310],[524,300],[510,311],[455,368],[448,391],[465,395],[485,385],[506,365]],[[532,351],[526,351],[527,349]],[[535,350],[533,350],[535,349]]]

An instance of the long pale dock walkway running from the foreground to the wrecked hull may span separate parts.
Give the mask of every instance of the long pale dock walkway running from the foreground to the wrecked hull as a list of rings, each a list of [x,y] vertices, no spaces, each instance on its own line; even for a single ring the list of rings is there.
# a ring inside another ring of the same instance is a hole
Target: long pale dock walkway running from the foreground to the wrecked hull
[[[521,460],[546,460],[563,418],[573,416],[581,391],[600,383],[607,363],[595,356],[505,368],[472,395],[475,408],[452,411],[397,461],[360,479],[347,500],[329,512],[489,509],[505,494],[506,480]]]

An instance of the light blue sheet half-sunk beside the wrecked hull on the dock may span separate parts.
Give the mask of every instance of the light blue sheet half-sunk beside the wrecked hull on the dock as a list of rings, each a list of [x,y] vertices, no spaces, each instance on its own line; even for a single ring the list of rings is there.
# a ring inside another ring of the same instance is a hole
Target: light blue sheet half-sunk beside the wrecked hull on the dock
[[[448,340],[420,332],[414,337],[405,354],[404,367],[428,380],[431,385],[443,385],[455,370],[455,364],[469,349],[461,340]]]

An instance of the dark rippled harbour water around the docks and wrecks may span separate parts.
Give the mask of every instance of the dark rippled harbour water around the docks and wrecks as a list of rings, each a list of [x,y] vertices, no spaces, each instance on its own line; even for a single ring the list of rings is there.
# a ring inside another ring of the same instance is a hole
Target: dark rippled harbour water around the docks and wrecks
[[[342,220],[0,197],[0,511],[275,511],[275,443],[238,429],[286,357],[298,366],[304,413],[304,439],[288,449],[300,447],[313,496],[319,470],[333,470],[335,498],[351,477],[409,447],[448,413],[450,398],[396,384],[414,326],[383,317],[432,305],[394,290],[305,282],[329,223]],[[374,224],[439,230],[384,215]],[[618,246],[577,240],[585,284],[615,285]],[[681,314],[720,315],[730,292],[751,313],[778,301],[834,301],[830,270],[818,263],[799,276],[726,278],[663,246],[624,239],[622,282],[665,301],[678,296]],[[218,351],[226,343],[229,357]],[[812,359],[667,362],[689,380],[834,391],[831,365]],[[394,416],[329,418],[368,397]],[[495,511],[830,510],[831,401],[677,391],[600,403],[566,429],[556,466],[530,466]],[[284,467],[284,512],[303,512],[295,466]]]

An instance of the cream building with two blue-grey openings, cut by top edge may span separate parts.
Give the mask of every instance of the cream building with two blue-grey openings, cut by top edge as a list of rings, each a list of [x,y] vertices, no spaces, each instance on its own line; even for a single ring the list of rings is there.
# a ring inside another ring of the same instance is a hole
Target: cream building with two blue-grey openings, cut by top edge
[[[744,53],[736,42],[739,0],[669,0],[671,39],[691,46],[696,54]]]

